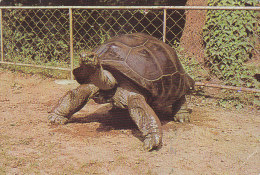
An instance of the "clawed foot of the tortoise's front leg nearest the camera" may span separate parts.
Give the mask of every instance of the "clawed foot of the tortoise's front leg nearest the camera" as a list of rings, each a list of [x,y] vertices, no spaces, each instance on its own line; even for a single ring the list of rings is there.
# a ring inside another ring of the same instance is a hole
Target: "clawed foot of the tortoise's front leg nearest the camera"
[[[144,140],[144,148],[148,151],[152,151],[161,146],[162,137],[160,134],[152,133],[146,136]]]

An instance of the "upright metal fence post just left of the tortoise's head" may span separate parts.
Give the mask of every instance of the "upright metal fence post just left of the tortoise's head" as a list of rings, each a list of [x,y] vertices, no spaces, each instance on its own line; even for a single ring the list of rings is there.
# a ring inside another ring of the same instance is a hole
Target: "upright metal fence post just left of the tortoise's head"
[[[70,21],[70,79],[74,79],[73,69],[74,69],[74,54],[73,54],[73,16],[72,8],[69,8],[69,21]]]

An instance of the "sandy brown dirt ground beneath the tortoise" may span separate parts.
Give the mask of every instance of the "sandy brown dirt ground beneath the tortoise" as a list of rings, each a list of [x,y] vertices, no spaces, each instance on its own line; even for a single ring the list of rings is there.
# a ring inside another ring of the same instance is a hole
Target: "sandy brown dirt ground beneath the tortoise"
[[[48,111],[75,85],[0,69],[0,174],[260,173],[257,110],[193,105],[190,123],[163,120],[163,146],[147,152],[127,115],[89,103],[69,124]]]

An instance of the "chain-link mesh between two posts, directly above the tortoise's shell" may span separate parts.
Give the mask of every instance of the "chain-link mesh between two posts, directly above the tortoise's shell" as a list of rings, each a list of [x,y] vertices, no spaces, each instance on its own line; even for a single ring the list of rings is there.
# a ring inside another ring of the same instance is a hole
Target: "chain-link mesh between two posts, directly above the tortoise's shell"
[[[76,9],[73,21],[75,50],[91,49],[126,33],[145,32],[162,38],[162,10]]]

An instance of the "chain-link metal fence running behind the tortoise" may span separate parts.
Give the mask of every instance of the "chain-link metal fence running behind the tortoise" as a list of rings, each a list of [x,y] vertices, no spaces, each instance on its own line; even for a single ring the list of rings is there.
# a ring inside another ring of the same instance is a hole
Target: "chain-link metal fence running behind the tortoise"
[[[0,7],[0,64],[72,72],[82,50],[90,50],[115,35],[144,32],[174,47],[197,85],[259,93],[257,80],[250,80],[251,84],[244,86],[249,80],[242,73],[237,81],[244,83],[227,86],[233,84],[221,71],[232,63],[207,53],[207,43],[211,42],[207,36],[225,32],[225,28],[221,31],[217,25],[205,29],[209,11],[241,12],[242,16],[247,15],[242,12],[250,12],[254,16],[252,30],[241,24],[247,32],[243,42],[250,53],[247,61],[237,64],[236,70],[248,70],[251,72],[248,76],[259,74],[260,7]],[[229,20],[225,18],[228,16],[219,20]],[[219,48],[223,45],[228,47],[228,43],[220,43]],[[230,52],[235,50],[231,48]],[[232,75],[228,77],[234,81]]]

